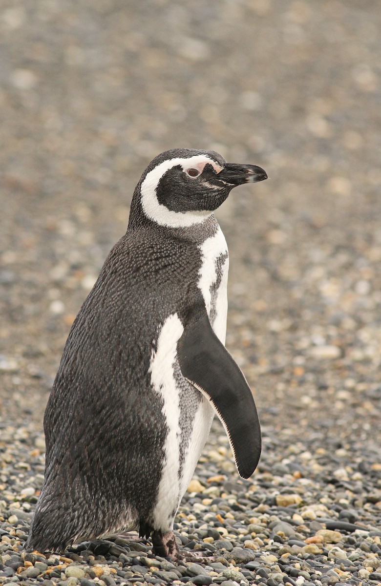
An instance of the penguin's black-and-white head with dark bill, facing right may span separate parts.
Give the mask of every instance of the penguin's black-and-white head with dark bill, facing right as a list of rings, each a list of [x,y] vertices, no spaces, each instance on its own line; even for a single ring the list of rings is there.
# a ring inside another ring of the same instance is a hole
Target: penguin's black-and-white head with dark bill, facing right
[[[138,211],[139,200],[140,212],[161,226],[184,228],[202,223],[234,187],[263,179],[267,175],[260,167],[227,163],[215,151],[166,151],[143,173],[135,189],[130,220]]]

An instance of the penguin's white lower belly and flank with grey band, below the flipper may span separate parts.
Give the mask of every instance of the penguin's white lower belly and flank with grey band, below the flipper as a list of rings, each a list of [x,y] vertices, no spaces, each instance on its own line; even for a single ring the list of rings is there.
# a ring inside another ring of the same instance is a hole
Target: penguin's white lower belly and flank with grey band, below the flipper
[[[213,419],[209,401],[182,376],[177,359],[177,343],[182,333],[178,315],[169,315],[161,326],[149,367],[167,428],[161,480],[152,510],[154,529],[163,532],[173,527]]]

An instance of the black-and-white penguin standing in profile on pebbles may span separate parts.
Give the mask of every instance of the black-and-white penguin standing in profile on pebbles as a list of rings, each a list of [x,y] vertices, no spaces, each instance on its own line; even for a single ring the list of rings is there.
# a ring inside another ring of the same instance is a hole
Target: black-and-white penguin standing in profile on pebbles
[[[239,474],[261,450],[250,388],[224,347],[226,240],[213,211],[267,179],[213,151],[174,149],[144,171],[64,347],[47,403],[45,481],[26,543],[63,551],[125,530],[179,560],[174,519],[216,413]]]

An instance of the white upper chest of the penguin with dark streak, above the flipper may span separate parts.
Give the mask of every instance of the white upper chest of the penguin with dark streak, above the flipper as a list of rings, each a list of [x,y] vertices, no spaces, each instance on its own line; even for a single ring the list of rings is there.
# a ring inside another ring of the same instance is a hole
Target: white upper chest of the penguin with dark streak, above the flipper
[[[201,267],[198,287],[205,301],[210,325],[216,336],[225,343],[227,316],[227,273],[229,253],[220,227],[199,246]]]

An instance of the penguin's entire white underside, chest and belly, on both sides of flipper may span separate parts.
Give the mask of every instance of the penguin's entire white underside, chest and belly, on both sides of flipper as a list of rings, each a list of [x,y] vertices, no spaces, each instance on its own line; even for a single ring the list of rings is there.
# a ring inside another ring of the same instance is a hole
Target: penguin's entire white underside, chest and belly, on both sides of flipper
[[[229,256],[222,230],[200,245],[202,266],[198,287],[202,292],[210,324],[224,344],[227,315],[227,272]],[[209,401],[186,381],[176,357],[183,325],[177,314],[169,316],[159,334],[157,352],[151,360],[151,382],[164,400],[163,415],[168,425],[165,461],[154,509],[154,529],[167,532],[195,471],[205,445],[214,411]],[[184,414],[192,411],[184,427]]]

